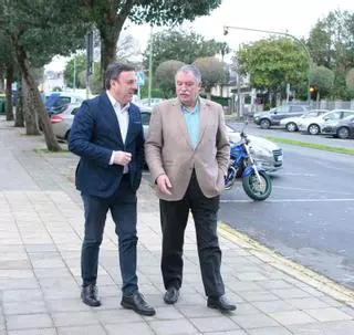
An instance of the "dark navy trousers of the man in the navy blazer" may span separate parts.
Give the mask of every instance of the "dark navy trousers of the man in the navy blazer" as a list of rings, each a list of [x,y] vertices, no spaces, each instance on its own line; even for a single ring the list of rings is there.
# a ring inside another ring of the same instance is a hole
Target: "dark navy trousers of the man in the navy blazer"
[[[125,175],[111,198],[82,195],[85,209],[85,235],[81,253],[83,286],[96,283],[98,253],[107,211],[111,210],[118,237],[123,295],[137,291],[136,276],[136,193]]]

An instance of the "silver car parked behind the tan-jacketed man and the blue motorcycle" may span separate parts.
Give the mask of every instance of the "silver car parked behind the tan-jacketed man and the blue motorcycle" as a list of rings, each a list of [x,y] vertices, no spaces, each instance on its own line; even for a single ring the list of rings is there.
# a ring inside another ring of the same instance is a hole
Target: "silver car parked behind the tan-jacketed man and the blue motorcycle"
[[[152,108],[140,108],[142,122],[145,138],[147,136]],[[240,133],[227,125],[227,133],[230,142],[238,143],[241,140]],[[274,143],[258,136],[248,135],[251,140],[251,150],[257,159],[257,164],[266,171],[272,172],[280,169],[283,165],[283,151]]]

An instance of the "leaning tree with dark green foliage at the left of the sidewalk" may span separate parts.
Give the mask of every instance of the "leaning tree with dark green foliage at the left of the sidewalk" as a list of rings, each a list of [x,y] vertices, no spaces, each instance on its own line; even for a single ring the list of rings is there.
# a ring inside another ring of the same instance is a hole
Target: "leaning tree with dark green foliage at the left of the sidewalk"
[[[31,69],[43,66],[55,54],[69,55],[79,46],[83,46],[82,36],[86,27],[75,18],[63,20],[70,18],[67,11],[62,8],[64,3],[70,1],[0,0],[0,31],[11,42],[14,59],[25,83],[23,91],[29,94],[28,102],[40,116],[50,150],[60,150],[61,147],[53,135]]]

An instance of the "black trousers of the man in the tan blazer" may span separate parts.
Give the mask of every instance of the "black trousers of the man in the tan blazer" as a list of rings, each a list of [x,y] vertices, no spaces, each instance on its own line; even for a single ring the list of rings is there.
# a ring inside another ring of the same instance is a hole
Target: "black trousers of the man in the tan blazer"
[[[197,234],[197,247],[201,278],[207,296],[225,294],[220,274],[221,250],[217,235],[217,213],[220,197],[206,198],[194,172],[185,197],[179,201],[159,201],[163,255],[162,272],[164,285],[179,289],[183,282],[184,237],[188,213],[191,211]]]

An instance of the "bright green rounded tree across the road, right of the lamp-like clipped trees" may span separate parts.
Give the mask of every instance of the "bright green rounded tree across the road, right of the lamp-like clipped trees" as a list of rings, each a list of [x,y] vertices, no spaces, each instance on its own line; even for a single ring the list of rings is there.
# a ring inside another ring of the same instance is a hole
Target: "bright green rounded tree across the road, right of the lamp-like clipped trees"
[[[284,92],[287,84],[304,87],[308,57],[295,42],[271,38],[244,45],[236,56],[242,74],[249,74],[251,86],[275,94]]]

